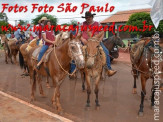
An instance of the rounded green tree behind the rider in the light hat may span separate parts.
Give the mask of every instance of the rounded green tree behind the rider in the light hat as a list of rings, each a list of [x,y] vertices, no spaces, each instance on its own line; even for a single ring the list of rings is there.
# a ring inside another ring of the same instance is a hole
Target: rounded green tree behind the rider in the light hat
[[[49,15],[49,14],[40,14],[37,15],[37,17],[35,19],[32,20],[32,23],[34,25],[38,24],[38,21],[42,18],[42,17],[47,17],[47,19],[49,19],[51,21],[52,25],[57,25],[57,18],[55,16]]]

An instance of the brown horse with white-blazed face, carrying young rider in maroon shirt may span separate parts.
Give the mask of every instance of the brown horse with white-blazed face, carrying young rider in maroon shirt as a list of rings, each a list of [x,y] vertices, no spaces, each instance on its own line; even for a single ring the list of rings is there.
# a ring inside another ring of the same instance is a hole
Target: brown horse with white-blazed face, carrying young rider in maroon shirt
[[[81,36],[81,35],[80,35]],[[57,108],[58,112],[62,112],[62,107],[60,104],[60,86],[63,79],[68,74],[70,69],[70,61],[73,59],[76,62],[78,68],[84,67],[84,57],[82,54],[82,47],[79,42],[80,36],[74,38],[70,35],[70,38],[64,40],[63,44],[59,47],[54,47],[53,51],[49,55],[49,60],[46,63],[42,63],[40,70],[37,71],[37,76],[50,76],[54,85],[54,95],[52,98],[52,104]],[[32,56],[34,49],[32,48],[29,53]],[[37,61],[32,59],[33,68],[36,67]],[[34,91],[36,88],[36,70],[33,72],[33,83],[31,100],[34,100]],[[39,80],[39,78],[38,78]],[[40,81],[38,81],[40,82]]]

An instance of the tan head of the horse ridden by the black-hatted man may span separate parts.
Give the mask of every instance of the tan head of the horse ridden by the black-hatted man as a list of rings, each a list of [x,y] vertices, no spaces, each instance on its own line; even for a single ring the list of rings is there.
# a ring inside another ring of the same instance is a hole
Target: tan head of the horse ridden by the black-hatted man
[[[86,54],[86,66],[87,68],[92,68],[95,63],[95,58],[98,55],[99,47],[100,47],[100,37],[103,35],[103,32],[91,37],[90,33],[88,33],[89,39],[87,45],[85,47]]]

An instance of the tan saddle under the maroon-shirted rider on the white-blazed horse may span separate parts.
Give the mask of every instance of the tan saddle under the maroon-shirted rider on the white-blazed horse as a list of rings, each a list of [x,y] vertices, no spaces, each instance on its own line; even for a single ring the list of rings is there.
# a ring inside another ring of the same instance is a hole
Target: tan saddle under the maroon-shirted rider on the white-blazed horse
[[[32,53],[32,59],[34,60],[38,60],[38,55],[40,53],[42,47],[38,47],[36,48],[33,53]],[[54,48],[48,48],[48,50],[45,52],[45,54],[43,55],[43,59],[42,62],[47,62],[49,60],[49,55],[50,53],[53,51]]]

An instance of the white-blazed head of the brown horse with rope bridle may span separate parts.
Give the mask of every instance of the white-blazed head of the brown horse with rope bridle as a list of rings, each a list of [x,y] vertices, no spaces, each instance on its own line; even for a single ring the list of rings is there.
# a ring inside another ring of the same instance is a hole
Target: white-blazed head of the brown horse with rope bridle
[[[81,34],[74,37],[73,34],[70,34],[69,41],[69,51],[70,55],[79,69],[84,68],[85,60],[82,52],[82,45],[80,43]]]

